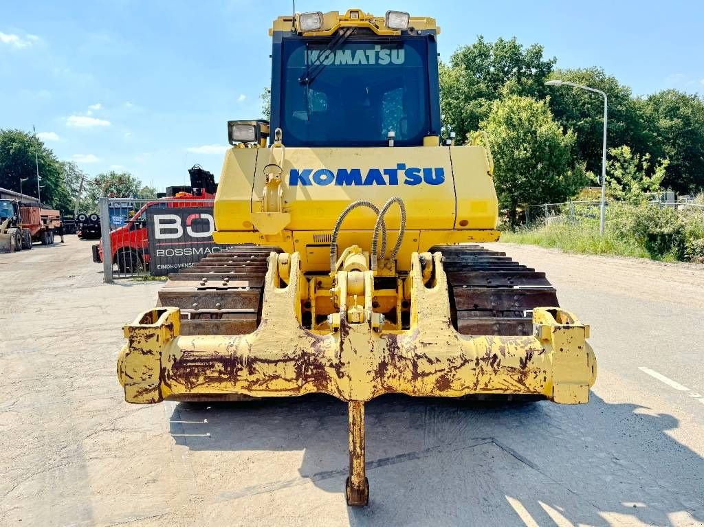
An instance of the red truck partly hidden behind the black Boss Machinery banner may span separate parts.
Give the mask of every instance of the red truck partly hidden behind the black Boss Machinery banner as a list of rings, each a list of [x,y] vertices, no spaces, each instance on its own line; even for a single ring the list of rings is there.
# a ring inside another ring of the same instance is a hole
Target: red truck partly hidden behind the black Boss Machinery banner
[[[125,225],[110,232],[113,264],[121,273],[133,274],[149,265],[149,236],[146,229],[146,210],[149,208],[198,207],[212,203],[218,185],[211,172],[199,165],[189,169],[191,186],[169,186],[167,197],[145,203]],[[93,261],[103,262],[103,241],[93,247]]]

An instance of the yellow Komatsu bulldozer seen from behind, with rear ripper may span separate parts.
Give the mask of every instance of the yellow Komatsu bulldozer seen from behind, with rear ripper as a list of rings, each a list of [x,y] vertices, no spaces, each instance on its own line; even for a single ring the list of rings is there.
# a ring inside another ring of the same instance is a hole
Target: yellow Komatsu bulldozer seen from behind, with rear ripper
[[[399,11],[274,21],[270,122],[228,123],[213,239],[231,248],[124,327],[127,402],[333,395],[365,505],[372,398],[589,400],[589,326],[477,245],[499,238],[493,162],[441,137],[439,32]]]

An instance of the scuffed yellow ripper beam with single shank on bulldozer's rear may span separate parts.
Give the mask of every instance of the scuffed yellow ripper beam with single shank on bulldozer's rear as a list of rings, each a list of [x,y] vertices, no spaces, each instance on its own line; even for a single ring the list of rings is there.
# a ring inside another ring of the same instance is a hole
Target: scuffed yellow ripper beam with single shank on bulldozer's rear
[[[346,401],[350,505],[369,500],[364,403],[372,398],[384,393],[453,398],[524,394],[564,404],[589,400],[596,379],[596,359],[586,342],[589,326],[566,310],[532,309],[529,335],[460,334],[451,321],[442,254],[413,253],[410,329],[384,332],[372,324],[373,317],[353,324],[341,315],[337,331],[320,334],[299,322],[299,255],[289,256],[284,287],[275,285],[281,283],[276,255],[269,258],[260,323],[249,334],[181,336],[175,307],[146,311],[127,324],[127,344],[118,357],[125,400],[327,393]],[[430,287],[422,261],[434,265]],[[370,298],[366,307],[371,313]]]

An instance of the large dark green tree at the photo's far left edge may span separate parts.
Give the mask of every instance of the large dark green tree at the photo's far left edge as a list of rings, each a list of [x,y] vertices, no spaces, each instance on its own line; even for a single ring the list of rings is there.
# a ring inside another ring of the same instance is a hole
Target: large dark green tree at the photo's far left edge
[[[19,192],[20,178],[27,178],[22,185],[23,193],[37,196],[37,164],[42,178],[42,202],[61,212],[73,210],[61,163],[51,148],[46,148],[34,134],[17,129],[0,129],[0,186]]]

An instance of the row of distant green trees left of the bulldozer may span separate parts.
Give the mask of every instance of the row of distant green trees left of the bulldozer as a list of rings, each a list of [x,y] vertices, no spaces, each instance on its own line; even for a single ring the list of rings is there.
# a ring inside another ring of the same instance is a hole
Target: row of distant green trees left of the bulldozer
[[[37,197],[37,167],[42,203],[63,215],[73,214],[81,182],[79,212],[98,212],[98,200],[103,196],[156,198],[156,189],[130,172],[111,170],[91,176],[72,161],[59,160],[35,134],[0,129],[0,186],[20,192],[20,179],[26,179],[21,191]]]

